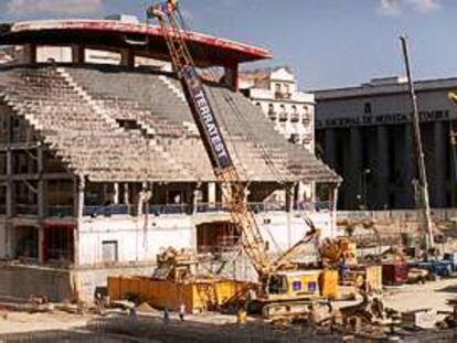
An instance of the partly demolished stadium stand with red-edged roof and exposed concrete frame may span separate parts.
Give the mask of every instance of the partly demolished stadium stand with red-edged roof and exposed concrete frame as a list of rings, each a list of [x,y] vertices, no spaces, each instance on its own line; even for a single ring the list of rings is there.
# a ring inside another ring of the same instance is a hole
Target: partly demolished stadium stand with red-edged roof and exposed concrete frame
[[[205,88],[272,254],[307,231],[305,208],[331,235],[332,205],[304,203],[300,184],[328,184],[331,201],[339,176],[237,92],[238,65],[269,52],[195,32],[188,44],[200,68],[225,71]],[[107,275],[150,274],[167,247],[235,248],[226,185],[215,182],[174,73],[161,67],[160,29],[18,22],[0,26],[0,45],[22,53],[0,67],[0,293],[88,298]],[[94,64],[94,51],[118,58]],[[270,202],[275,192],[285,202]]]

